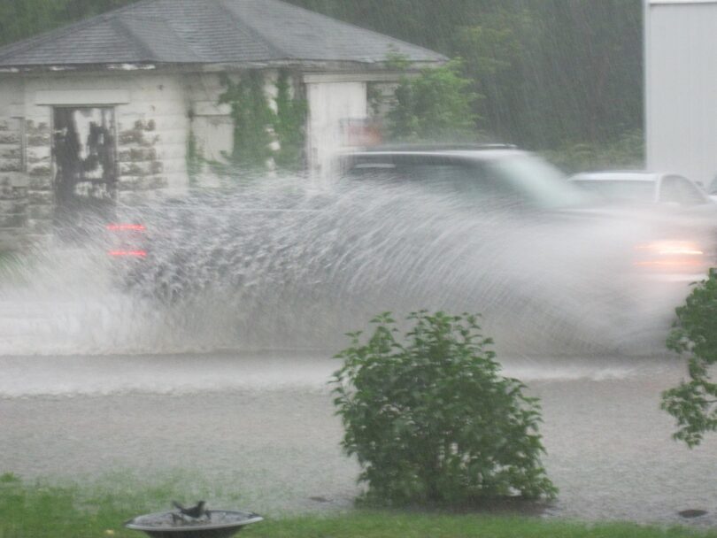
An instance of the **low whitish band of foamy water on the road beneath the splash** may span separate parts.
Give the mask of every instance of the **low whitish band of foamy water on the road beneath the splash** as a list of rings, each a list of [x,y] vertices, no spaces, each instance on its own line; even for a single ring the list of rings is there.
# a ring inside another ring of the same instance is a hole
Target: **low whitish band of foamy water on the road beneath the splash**
[[[679,379],[681,361],[656,357],[508,358],[502,373],[528,385],[552,381]],[[0,399],[76,396],[194,396],[252,391],[328,394],[339,367],[328,353],[235,352],[206,355],[0,357]]]

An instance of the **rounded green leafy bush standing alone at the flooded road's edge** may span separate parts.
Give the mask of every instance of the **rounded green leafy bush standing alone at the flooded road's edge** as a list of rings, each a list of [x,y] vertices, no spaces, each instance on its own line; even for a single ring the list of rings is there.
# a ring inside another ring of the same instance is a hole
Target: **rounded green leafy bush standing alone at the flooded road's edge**
[[[557,489],[544,452],[536,398],[500,365],[474,315],[412,313],[404,342],[389,313],[374,334],[336,357],[335,405],[343,449],[362,466],[367,501],[470,503],[520,495],[551,498]]]

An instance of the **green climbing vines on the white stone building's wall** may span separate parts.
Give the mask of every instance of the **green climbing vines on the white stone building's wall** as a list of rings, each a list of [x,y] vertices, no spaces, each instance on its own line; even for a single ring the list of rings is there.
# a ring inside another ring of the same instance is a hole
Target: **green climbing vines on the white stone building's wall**
[[[231,106],[234,122],[234,143],[225,155],[229,164],[237,170],[264,170],[272,162],[281,170],[303,169],[306,103],[292,95],[289,72],[279,73],[276,111],[266,96],[263,73],[246,72],[239,82],[225,75],[222,84],[226,90],[219,103]]]

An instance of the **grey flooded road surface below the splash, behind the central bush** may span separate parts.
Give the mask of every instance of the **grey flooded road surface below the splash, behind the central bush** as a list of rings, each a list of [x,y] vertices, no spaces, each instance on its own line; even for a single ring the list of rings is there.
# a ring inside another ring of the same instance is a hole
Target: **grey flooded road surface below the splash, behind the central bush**
[[[358,466],[327,353],[0,357],[0,472],[189,490],[266,514],[351,509]],[[659,411],[674,358],[505,360],[544,408],[544,462],[560,488],[548,517],[717,524],[717,440],[687,450]]]

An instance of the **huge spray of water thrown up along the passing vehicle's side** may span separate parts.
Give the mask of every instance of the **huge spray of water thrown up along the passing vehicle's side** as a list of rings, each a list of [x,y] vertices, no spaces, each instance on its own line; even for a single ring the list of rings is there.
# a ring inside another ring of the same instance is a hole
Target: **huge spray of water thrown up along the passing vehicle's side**
[[[120,219],[147,228],[134,265],[107,256],[97,222],[81,247],[4,267],[0,355],[337,350],[378,312],[420,309],[482,313],[512,356],[659,349],[685,290],[629,274],[645,230],[490,210],[406,186],[282,180],[126,208]]]

